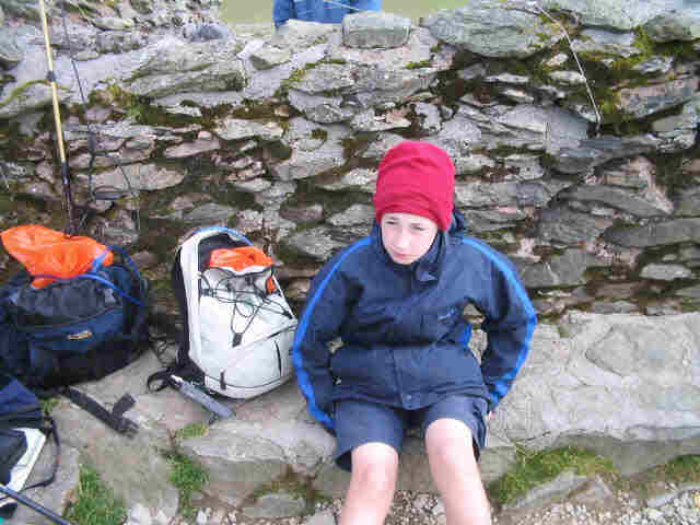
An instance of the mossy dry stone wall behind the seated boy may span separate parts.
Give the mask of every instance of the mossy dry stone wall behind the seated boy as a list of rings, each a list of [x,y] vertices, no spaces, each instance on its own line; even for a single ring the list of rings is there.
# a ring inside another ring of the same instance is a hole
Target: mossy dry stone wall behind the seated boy
[[[541,316],[695,311],[700,7],[599,3],[481,0],[262,37],[211,5],[51,5],[81,233],[139,252],[158,282],[186,231],[225,223],[299,302],[369,231],[382,155],[420,139],[451,153],[471,233],[515,260]],[[1,222],[62,228],[36,4],[0,5]]]

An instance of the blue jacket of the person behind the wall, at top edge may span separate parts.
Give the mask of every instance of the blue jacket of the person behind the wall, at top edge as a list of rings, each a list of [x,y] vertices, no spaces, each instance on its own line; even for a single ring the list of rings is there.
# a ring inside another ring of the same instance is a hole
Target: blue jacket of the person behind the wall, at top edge
[[[290,19],[339,24],[346,14],[381,10],[382,0],[275,0],[272,19],[275,27]]]

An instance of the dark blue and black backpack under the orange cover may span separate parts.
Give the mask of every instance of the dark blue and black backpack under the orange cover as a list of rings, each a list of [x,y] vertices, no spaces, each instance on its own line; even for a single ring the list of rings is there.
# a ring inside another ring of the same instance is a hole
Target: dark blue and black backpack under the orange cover
[[[126,394],[112,412],[69,385],[100,380],[137,359],[148,346],[148,283],[121,252],[121,262],[95,265],[71,279],[34,288],[23,270],[0,288],[0,371],[38,397],[63,394],[116,431],[133,435],[121,415]],[[50,276],[47,276],[50,277]]]

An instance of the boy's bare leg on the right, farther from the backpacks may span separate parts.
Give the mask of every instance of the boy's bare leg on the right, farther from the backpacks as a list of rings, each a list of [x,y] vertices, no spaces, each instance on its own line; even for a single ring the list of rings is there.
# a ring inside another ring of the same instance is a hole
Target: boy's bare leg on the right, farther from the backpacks
[[[447,524],[490,524],[489,501],[474,457],[469,428],[456,419],[433,421],[425,432],[425,447]]]

